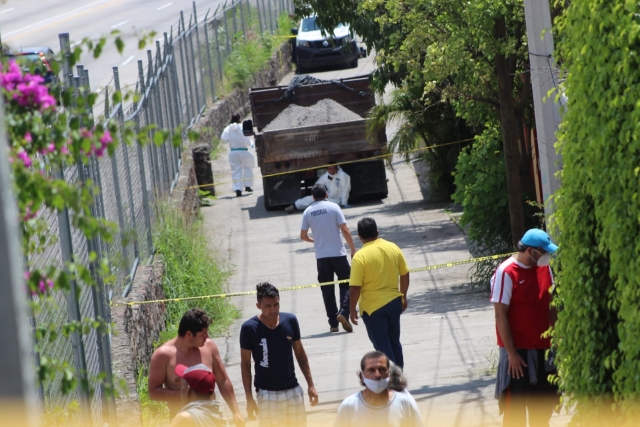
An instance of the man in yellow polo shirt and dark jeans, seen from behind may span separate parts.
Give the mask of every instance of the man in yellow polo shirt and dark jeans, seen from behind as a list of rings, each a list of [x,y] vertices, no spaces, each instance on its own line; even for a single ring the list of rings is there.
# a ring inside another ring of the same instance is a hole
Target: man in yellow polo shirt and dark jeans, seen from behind
[[[379,237],[373,218],[358,221],[358,237],[362,249],[351,261],[349,279],[351,323],[358,324],[356,303],[359,302],[360,315],[373,347],[402,368],[400,315],[407,309],[407,262],[395,243]]]

